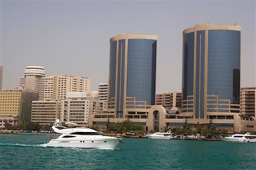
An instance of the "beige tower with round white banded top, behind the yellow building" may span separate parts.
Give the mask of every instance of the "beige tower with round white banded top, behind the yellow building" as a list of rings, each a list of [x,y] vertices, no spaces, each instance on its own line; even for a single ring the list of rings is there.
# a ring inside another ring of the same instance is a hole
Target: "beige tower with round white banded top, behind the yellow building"
[[[24,76],[20,78],[20,87],[38,92],[39,100],[43,100],[45,75],[44,67],[27,66],[24,71]]]

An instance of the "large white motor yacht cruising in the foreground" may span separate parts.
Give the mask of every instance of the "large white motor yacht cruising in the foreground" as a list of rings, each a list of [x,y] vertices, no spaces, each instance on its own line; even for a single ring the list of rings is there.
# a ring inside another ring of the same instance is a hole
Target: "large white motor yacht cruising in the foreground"
[[[74,123],[66,124],[77,125]],[[66,128],[61,125],[59,120],[56,120],[52,129],[61,135],[56,139],[51,139],[46,144],[47,147],[115,148],[123,139],[104,136],[89,128]]]

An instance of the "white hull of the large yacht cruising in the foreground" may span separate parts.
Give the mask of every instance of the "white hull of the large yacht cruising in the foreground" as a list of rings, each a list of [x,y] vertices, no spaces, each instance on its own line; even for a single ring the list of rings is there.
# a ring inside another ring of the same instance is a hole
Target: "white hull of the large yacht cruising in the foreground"
[[[74,137],[52,139],[46,144],[47,147],[72,147],[72,148],[115,148],[122,138],[92,135],[92,137]]]

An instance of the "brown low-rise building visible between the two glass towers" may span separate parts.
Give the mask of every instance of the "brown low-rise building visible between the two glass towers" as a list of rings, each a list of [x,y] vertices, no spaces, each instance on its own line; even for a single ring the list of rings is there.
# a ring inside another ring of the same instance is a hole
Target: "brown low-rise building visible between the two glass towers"
[[[165,109],[181,108],[181,91],[157,92],[155,104],[162,105]]]

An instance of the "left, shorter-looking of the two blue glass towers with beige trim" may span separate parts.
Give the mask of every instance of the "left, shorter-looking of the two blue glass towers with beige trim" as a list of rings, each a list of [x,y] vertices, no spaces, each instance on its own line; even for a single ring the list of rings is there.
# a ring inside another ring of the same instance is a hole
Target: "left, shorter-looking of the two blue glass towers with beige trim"
[[[127,33],[110,39],[108,108],[116,118],[155,104],[156,39]]]

